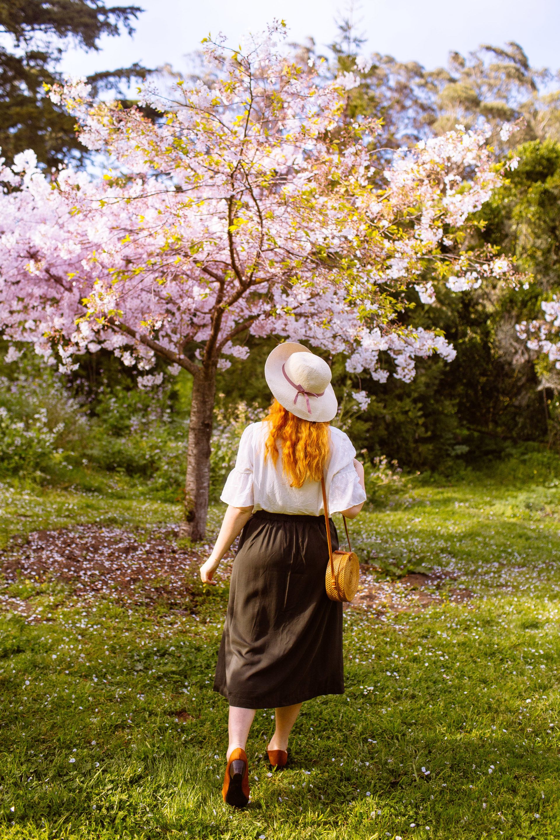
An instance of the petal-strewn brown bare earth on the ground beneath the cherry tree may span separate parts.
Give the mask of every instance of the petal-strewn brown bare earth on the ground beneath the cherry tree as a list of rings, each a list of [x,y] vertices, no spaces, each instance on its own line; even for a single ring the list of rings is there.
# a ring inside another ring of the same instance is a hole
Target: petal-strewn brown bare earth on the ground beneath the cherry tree
[[[177,527],[162,528],[139,537],[110,526],[83,525],[58,531],[36,531],[27,543],[0,551],[0,574],[5,586],[29,580],[39,585],[58,580],[71,587],[80,601],[111,596],[125,606],[153,606],[164,603],[175,610],[190,611],[191,591],[203,557],[191,549],[177,547]],[[215,576],[228,580],[233,558],[223,561]],[[432,570],[429,575],[410,574],[400,580],[377,580],[374,566],[360,565],[358,594],[345,608],[377,612],[417,610],[441,603],[444,598],[461,603],[473,593],[460,586],[450,588],[453,574]],[[34,612],[33,587],[26,595],[0,595],[4,608],[40,620]],[[44,617],[44,613],[43,616]]]

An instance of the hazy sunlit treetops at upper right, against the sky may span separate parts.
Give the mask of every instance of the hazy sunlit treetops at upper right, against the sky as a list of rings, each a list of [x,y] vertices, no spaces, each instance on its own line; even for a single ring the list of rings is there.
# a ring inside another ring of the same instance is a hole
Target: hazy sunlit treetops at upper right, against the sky
[[[364,53],[365,35],[351,18],[338,22],[338,37],[321,54],[313,39],[293,45],[305,69],[323,61],[333,77],[355,76],[348,94],[348,118],[369,114],[383,121],[381,137],[390,148],[444,134],[459,123],[489,125],[501,152],[534,139],[560,139],[557,75],[531,66],[521,45],[484,44],[468,55],[452,50],[447,66],[427,68],[392,55]],[[511,142],[500,139],[504,122],[519,121]]]

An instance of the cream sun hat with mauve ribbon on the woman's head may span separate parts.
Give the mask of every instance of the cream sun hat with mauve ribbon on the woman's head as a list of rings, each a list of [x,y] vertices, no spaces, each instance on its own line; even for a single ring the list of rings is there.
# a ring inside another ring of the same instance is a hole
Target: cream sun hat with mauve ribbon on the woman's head
[[[303,344],[286,341],[275,347],[264,365],[264,376],[280,405],[296,417],[328,423],[337,413],[331,369]]]

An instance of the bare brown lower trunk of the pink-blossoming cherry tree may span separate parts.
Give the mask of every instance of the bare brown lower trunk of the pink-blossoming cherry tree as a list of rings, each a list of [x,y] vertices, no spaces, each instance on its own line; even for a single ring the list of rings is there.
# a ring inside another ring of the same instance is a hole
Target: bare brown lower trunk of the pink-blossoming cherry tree
[[[210,490],[210,441],[216,394],[216,368],[202,369],[192,386],[189,448],[186,466],[185,518],[180,536],[199,540],[206,531]]]

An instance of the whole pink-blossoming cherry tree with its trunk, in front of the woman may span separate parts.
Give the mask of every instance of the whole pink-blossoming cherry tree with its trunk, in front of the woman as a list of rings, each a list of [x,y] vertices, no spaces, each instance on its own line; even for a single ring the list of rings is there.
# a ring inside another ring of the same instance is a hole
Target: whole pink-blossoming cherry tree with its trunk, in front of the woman
[[[351,372],[410,381],[446,339],[405,328],[406,291],[434,302],[512,276],[467,247],[472,214],[500,184],[484,134],[458,128],[395,155],[379,189],[379,124],[348,123],[348,79],[302,72],[275,26],[242,50],[205,46],[211,87],[179,81],[141,108],[91,102],[82,82],[51,97],[106,160],[102,176],[42,174],[32,153],[3,168],[0,324],[70,370],[100,347],[147,371],[156,356],[193,376],[186,533],[207,516],[216,372],[253,336],[344,353]],[[428,278],[428,279],[427,279]],[[380,355],[381,354],[381,355]],[[154,377],[139,376],[149,385]]]

